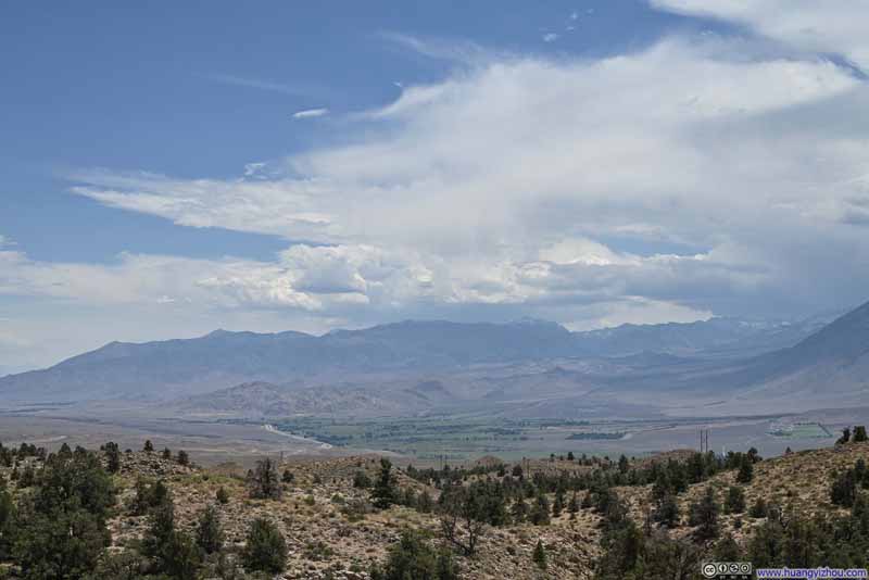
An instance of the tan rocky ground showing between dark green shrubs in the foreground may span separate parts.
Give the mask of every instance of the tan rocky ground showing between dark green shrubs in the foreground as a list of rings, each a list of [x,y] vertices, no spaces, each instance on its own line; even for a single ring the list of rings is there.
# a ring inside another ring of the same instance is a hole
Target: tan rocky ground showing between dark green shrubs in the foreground
[[[669,459],[683,462],[690,452],[677,451],[632,462],[637,468]],[[763,496],[802,515],[815,513],[846,514],[847,509],[832,505],[830,489],[832,475],[851,468],[858,459],[869,459],[869,443],[848,443],[832,449],[806,451],[755,464],[754,478],[743,486],[747,504]],[[24,462],[37,464],[28,458]],[[518,464],[525,477],[580,475],[593,466],[579,465],[562,458],[527,459]],[[20,466],[23,468],[23,466]],[[511,478],[513,466],[495,472],[500,462],[495,457],[480,459],[469,467],[481,467],[480,472],[466,478],[466,483],[489,477]],[[377,510],[369,504],[368,491],[353,486],[360,471],[375,479],[379,457],[365,455],[332,459],[293,458],[280,465],[290,470],[293,479],[284,484],[278,500],[253,500],[245,482],[244,469],[234,464],[214,467],[179,465],[176,459],[165,459],[160,453],[128,452],[123,454],[122,469],[115,476],[119,502],[109,521],[112,533],[111,551],[123,553],[136,550],[148,529],[148,517],[131,515],[129,506],[135,496],[138,479],[162,479],[169,488],[176,506],[176,524],[184,529],[194,528],[201,510],[214,505],[219,512],[225,529],[225,550],[236,554],[243,546],[245,530],[256,517],[275,522],[289,546],[287,569],[276,578],[306,580],[365,580],[375,563],[386,558],[402,530],[421,531],[430,542],[441,542],[439,519],[434,514],[421,513],[403,506]],[[8,478],[10,468],[0,468]],[[427,491],[437,499],[438,490],[411,479],[404,470],[394,471],[400,489]],[[678,496],[681,520],[670,533],[689,538],[692,528],[688,522],[689,505],[711,487],[719,501],[734,483],[735,471],[722,471],[709,480],[691,486]],[[228,491],[228,501],[215,501],[218,489]],[[652,486],[616,488],[629,506],[629,515],[640,525],[651,502]],[[26,493],[26,490],[24,491]],[[584,495],[584,492],[581,492]],[[580,495],[580,496],[582,496]],[[550,494],[550,501],[553,500]],[[765,518],[747,514],[722,515],[723,532],[731,532],[744,543],[752,530],[761,526]],[[549,525],[508,525],[487,527],[479,550],[474,557],[458,557],[461,577],[466,580],[538,580],[542,578],[567,580],[593,577],[595,559],[601,555],[602,518],[593,509],[582,508],[571,517],[567,510],[554,517]],[[538,541],[546,546],[549,567],[543,572],[533,562],[532,552]]]

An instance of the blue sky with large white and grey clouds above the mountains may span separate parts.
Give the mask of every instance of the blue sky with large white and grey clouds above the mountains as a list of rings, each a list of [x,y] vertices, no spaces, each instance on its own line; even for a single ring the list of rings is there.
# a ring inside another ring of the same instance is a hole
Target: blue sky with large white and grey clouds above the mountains
[[[869,1],[0,14],[0,375],[113,340],[869,299]]]

